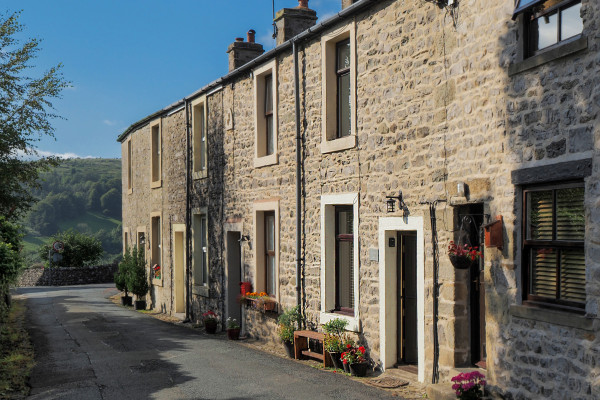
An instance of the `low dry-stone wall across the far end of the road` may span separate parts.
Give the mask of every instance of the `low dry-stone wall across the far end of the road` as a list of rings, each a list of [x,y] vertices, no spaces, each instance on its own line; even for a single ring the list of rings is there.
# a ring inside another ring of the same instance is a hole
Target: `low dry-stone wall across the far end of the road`
[[[81,268],[26,268],[15,286],[71,286],[114,282],[117,264]]]

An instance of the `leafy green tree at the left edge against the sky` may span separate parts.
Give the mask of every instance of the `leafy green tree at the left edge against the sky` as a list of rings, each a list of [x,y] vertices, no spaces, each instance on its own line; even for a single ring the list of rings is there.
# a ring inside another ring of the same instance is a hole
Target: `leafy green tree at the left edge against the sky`
[[[54,135],[51,121],[59,117],[52,100],[69,85],[60,64],[31,77],[41,40],[17,37],[23,31],[19,17],[19,12],[0,15],[0,215],[11,220],[34,203],[30,187],[37,185],[40,170],[58,162],[38,157],[34,145]]]

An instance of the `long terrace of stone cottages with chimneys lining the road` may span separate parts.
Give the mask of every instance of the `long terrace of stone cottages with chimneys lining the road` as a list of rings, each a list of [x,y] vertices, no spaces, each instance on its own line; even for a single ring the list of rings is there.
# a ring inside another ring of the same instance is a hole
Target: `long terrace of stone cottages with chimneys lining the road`
[[[307,3],[119,137],[152,307],[275,342],[247,281],[311,329],[346,319],[381,369],[599,398],[600,3]]]

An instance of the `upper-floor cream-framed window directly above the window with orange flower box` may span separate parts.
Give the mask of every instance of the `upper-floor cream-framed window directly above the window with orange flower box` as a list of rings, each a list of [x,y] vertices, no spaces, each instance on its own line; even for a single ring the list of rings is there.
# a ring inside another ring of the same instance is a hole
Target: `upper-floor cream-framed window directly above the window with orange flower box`
[[[277,155],[277,63],[254,71],[254,166],[276,164]]]

